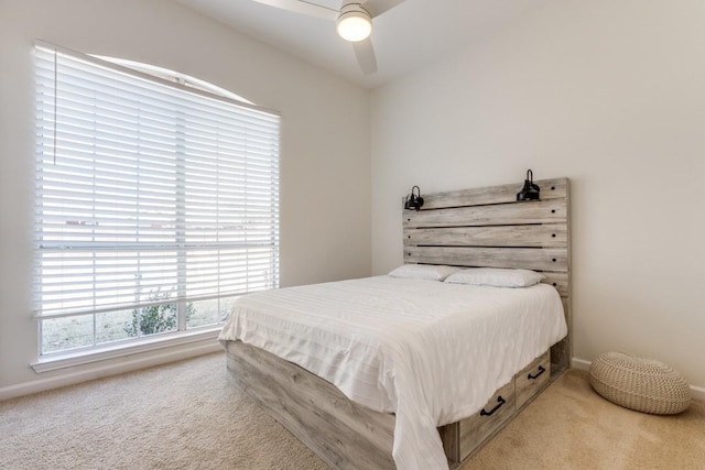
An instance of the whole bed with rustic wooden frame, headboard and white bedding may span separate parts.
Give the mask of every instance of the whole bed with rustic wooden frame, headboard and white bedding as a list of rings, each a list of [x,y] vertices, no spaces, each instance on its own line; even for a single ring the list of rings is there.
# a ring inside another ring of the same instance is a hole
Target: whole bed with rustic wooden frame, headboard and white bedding
[[[234,382],[334,468],[457,467],[568,364],[568,181],[536,183],[540,201],[516,203],[520,185],[424,195],[402,212],[403,258],[541,285],[376,276],[246,296],[220,336]]]

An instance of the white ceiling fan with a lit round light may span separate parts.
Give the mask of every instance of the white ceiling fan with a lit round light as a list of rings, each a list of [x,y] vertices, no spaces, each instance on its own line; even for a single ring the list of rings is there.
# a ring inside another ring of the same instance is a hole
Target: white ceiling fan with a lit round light
[[[404,0],[343,0],[339,10],[306,0],[254,1],[308,17],[335,21],[338,35],[352,43],[352,50],[360,69],[365,75],[370,75],[377,72],[377,57],[369,37],[372,32],[372,19],[397,7]]]

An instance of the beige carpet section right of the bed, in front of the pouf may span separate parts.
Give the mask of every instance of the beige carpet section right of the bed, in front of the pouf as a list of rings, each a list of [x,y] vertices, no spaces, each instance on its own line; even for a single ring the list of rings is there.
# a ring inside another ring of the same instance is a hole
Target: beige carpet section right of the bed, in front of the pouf
[[[617,406],[571,369],[464,467],[705,470],[705,403],[672,416]]]

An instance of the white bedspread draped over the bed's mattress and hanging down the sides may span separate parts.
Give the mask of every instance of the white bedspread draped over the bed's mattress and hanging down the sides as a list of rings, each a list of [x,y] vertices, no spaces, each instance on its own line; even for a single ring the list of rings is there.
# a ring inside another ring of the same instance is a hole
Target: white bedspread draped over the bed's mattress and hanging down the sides
[[[399,469],[446,469],[437,426],[476,413],[567,332],[555,288],[368,277],[247,295],[219,339],[242,340],[397,414]]]

